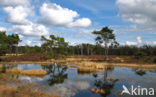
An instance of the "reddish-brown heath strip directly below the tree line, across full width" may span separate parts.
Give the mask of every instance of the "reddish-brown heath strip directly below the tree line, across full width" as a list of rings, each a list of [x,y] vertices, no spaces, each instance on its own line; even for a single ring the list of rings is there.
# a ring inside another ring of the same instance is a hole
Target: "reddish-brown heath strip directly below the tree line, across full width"
[[[115,56],[109,55],[107,63],[133,63],[133,64],[155,64],[155,56],[146,56],[137,59],[135,56]],[[24,54],[19,56],[3,56],[0,63],[51,63],[51,62],[106,62],[104,55],[75,55],[68,56],[66,59],[49,59],[45,54]]]

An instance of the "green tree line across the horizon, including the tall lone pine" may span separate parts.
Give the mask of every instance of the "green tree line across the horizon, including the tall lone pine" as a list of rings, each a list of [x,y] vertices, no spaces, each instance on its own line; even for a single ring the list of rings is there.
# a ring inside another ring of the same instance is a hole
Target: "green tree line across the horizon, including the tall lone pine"
[[[72,46],[64,38],[50,35],[48,39],[41,36],[43,42],[41,46],[18,46],[21,42],[19,35],[7,35],[3,31],[0,32],[0,55],[44,53],[50,58],[67,55],[105,55],[106,60],[107,55],[156,56],[156,46],[119,45],[113,30],[108,27],[103,27],[101,30],[92,33],[96,35],[96,44],[82,43]]]

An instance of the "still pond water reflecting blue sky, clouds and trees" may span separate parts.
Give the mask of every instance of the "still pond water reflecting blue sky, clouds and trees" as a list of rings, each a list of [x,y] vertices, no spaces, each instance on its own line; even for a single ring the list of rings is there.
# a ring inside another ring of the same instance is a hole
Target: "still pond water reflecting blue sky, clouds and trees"
[[[19,68],[22,70],[43,69],[47,71],[44,77],[32,77],[19,75],[18,79],[22,82],[32,82],[43,86],[42,91],[56,94],[60,97],[134,97],[121,95],[122,86],[127,88],[141,86],[156,89],[156,70],[108,67],[107,85],[104,84],[104,72],[81,73],[77,68],[67,67],[61,63],[50,65],[39,64],[18,64],[6,65],[7,68]],[[105,89],[105,94],[93,93],[91,89]],[[150,96],[136,96],[150,97]],[[151,96],[155,97],[155,96]]]

